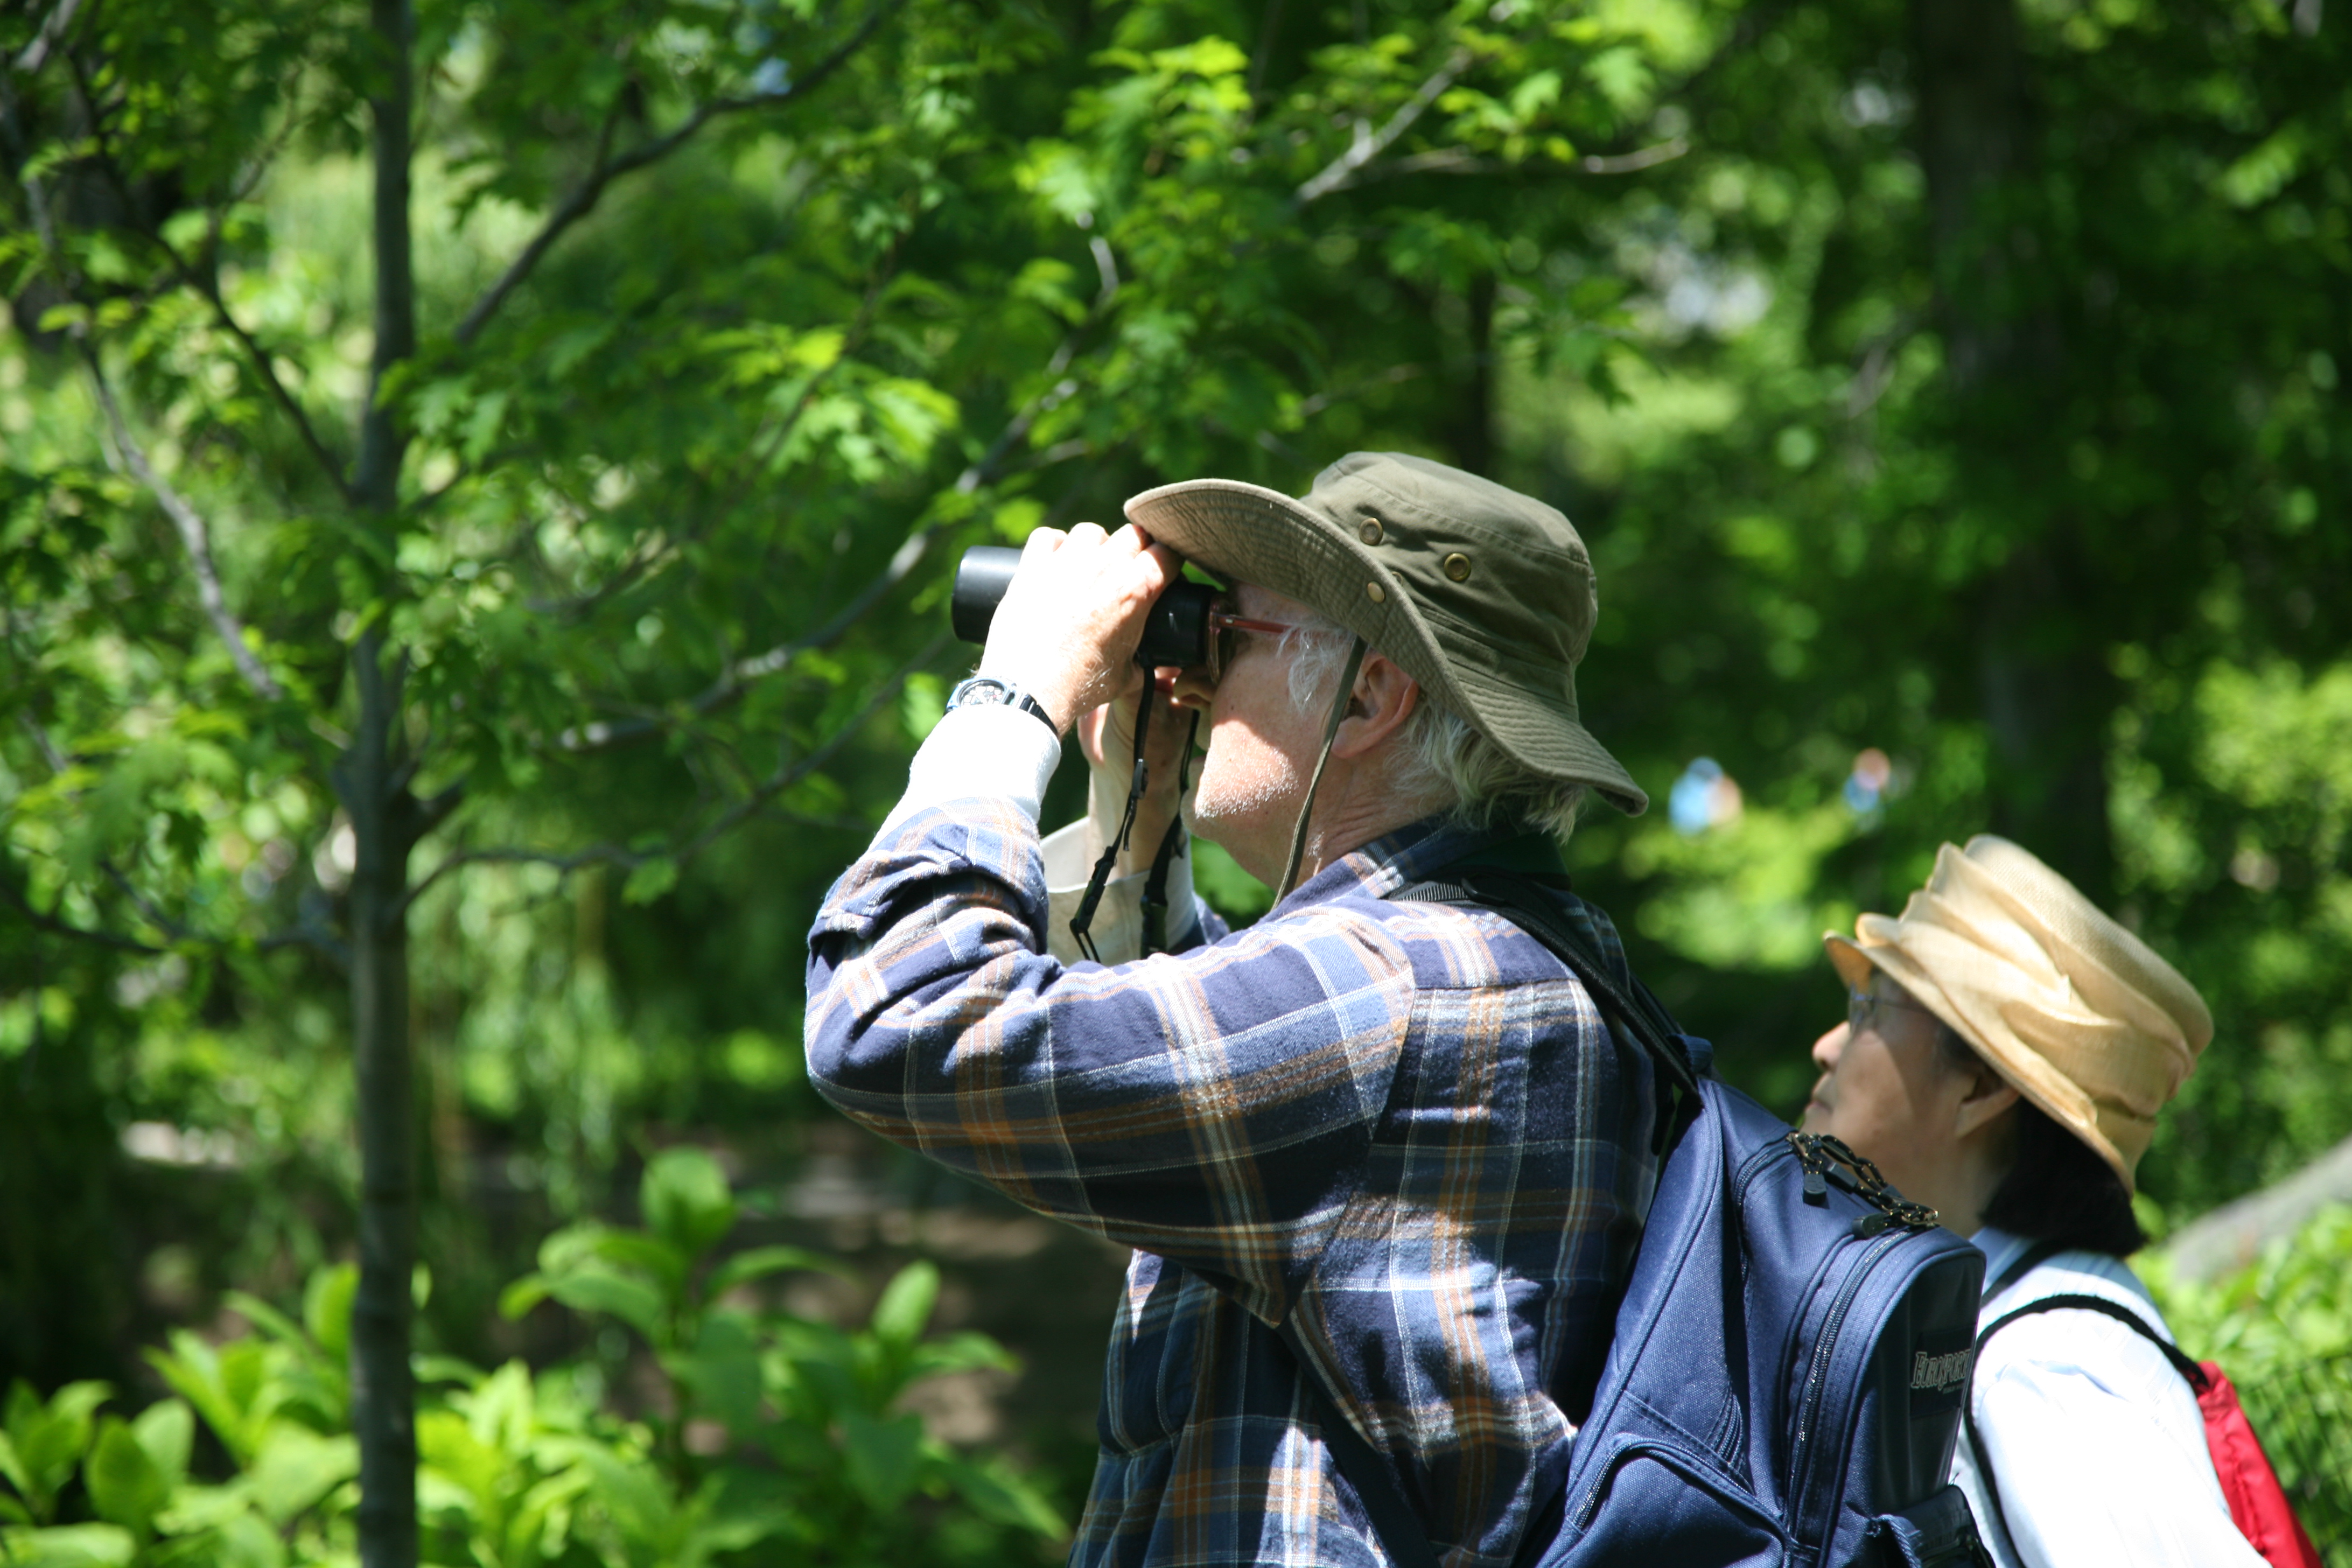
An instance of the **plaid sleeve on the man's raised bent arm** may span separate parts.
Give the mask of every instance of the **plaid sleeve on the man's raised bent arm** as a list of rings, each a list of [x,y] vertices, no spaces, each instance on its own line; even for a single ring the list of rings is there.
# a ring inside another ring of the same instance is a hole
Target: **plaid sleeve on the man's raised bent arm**
[[[1388,1098],[1404,954],[1324,917],[1068,966],[1042,952],[1049,907],[1016,802],[901,818],[818,912],[811,1081],[884,1138],[1270,1293],[1279,1316],[1284,1265],[1336,1222]]]

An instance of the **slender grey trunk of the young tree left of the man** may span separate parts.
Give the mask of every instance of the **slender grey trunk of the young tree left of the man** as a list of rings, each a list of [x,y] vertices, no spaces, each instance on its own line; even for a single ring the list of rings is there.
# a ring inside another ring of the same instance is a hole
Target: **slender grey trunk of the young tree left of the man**
[[[372,0],[376,350],[360,414],[362,527],[390,543],[405,440],[383,407],[386,374],[416,350],[409,249],[409,0]],[[416,1396],[409,1382],[416,1272],[416,1084],[402,900],[416,799],[402,766],[402,679],[381,621],[353,646],[360,712],[336,764],[350,818],[350,1023],[360,1117],[360,1291],[350,1314],[350,1418],[360,1441],[360,1563],[416,1563]]]

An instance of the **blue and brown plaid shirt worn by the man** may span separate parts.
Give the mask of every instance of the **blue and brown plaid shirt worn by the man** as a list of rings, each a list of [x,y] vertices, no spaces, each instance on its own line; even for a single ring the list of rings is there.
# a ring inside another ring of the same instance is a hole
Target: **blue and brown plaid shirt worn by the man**
[[[1649,1065],[1484,910],[1392,903],[1496,835],[1428,823],[1256,926],[1044,952],[1030,818],[882,832],[809,938],[809,1074],[856,1121],[1136,1248],[1070,1561],[1385,1563],[1270,1324],[1449,1568],[1503,1568],[1566,1474],[1656,1185]],[[1623,971],[1609,919],[1562,905]]]

